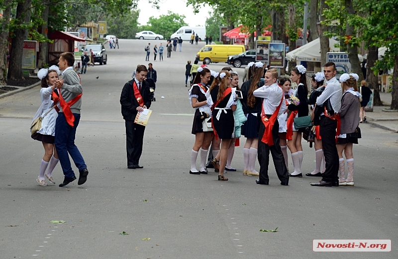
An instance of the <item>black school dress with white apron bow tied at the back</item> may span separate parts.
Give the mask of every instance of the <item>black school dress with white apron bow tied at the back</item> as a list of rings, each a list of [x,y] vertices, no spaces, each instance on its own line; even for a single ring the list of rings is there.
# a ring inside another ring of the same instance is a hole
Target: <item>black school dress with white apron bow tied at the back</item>
[[[210,92],[211,100],[213,101],[214,104],[217,101],[218,88],[219,86],[217,85]],[[229,99],[231,98],[231,94],[232,93],[229,93],[227,96],[225,96],[225,98],[222,99],[222,101],[218,103],[216,107],[214,107],[214,105],[212,107],[213,127],[217,132],[218,137],[221,139],[231,139],[234,137],[235,119],[233,117],[232,110],[226,109],[225,111],[227,113],[225,114],[224,111],[221,110],[220,118],[219,120],[217,120],[216,116],[218,111],[220,110],[214,108],[230,108],[226,106],[228,104]]]

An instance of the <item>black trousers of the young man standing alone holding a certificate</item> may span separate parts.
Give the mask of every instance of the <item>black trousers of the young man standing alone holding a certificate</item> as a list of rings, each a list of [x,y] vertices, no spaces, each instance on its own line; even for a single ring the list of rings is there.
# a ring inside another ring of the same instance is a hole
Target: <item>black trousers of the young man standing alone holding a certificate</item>
[[[125,123],[127,165],[138,165],[142,154],[145,126],[138,125],[134,121],[125,121]]]

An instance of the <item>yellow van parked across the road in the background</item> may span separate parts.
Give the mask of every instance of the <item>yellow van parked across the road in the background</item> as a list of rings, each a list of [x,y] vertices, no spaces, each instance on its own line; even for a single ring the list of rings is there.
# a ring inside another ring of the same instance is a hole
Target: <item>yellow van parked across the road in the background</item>
[[[205,45],[196,55],[199,61],[210,62],[227,62],[228,56],[245,52],[243,45]]]

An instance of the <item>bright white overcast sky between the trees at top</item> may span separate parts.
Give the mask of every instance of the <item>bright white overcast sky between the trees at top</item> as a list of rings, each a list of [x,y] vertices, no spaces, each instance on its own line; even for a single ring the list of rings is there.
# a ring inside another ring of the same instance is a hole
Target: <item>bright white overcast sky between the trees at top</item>
[[[190,26],[204,26],[206,18],[208,17],[208,12],[211,10],[209,6],[200,8],[198,14],[194,15],[194,9],[192,6],[187,7],[187,2],[185,0],[159,0],[160,9],[152,7],[152,4],[147,0],[138,1],[138,9],[140,9],[140,16],[138,17],[138,22],[141,25],[147,24],[149,17],[154,16],[159,17],[162,14],[167,14],[168,11],[178,13],[180,15],[185,15],[184,19],[186,23]]]

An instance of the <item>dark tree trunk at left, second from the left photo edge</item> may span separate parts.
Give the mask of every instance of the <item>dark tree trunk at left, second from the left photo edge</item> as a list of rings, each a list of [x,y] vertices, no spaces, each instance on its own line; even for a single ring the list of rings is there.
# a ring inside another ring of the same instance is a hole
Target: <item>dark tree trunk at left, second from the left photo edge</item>
[[[22,76],[22,49],[23,41],[27,40],[29,30],[23,28],[30,24],[30,5],[32,0],[25,0],[18,2],[16,6],[16,19],[18,20],[19,28],[14,31],[14,38],[12,39],[11,55],[8,67],[8,79],[23,79]],[[21,26],[22,25],[22,26]]]

